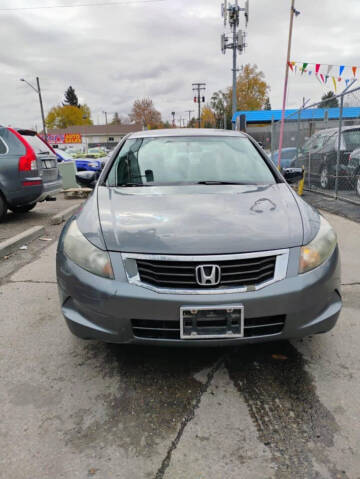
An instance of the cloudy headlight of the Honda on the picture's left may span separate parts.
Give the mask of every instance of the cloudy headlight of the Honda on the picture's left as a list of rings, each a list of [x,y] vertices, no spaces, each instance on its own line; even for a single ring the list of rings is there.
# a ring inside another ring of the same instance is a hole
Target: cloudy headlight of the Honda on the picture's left
[[[110,256],[91,244],[80,232],[76,220],[69,226],[64,238],[64,253],[74,263],[90,273],[114,279]]]

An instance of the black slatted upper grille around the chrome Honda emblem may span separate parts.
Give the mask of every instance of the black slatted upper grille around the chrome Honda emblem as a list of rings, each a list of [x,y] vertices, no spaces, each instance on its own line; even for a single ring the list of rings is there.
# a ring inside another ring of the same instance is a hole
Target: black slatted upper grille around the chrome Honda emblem
[[[158,261],[137,259],[140,280],[160,288],[213,289],[249,287],[274,278],[276,255],[257,258],[231,259],[225,261]],[[196,281],[195,268],[200,265],[220,267],[220,283],[200,286]]]

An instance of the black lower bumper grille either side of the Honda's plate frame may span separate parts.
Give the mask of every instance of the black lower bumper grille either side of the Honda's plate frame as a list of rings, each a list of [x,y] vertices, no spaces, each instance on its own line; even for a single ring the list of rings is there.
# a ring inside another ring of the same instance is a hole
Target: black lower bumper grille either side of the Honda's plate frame
[[[266,316],[262,318],[245,318],[244,337],[271,336],[279,334],[284,328],[286,316]],[[217,325],[217,323],[216,323]],[[208,327],[204,323],[198,325]],[[136,338],[142,339],[180,339],[180,321],[162,321],[156,319],[133,319],[133,334]]]

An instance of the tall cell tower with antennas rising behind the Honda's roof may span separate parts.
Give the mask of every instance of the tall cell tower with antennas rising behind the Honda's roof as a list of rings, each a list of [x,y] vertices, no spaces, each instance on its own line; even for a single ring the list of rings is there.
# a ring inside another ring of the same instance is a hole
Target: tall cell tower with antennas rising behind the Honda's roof
[[[240,24],[240,12],[244,12],[245,16],[245,27],[247,27],[249,21],[249,0],[245,1],[244,8],[241,8],[238,4],[238,0],[235,0],[235,3],[228,4],[227,0],[221,5],[221,16],[224,18],[224,27],[226,29],[227,25],[230,26],[231,33],[228,35],[225,31],[221,35],[221,51],[226,53],[226,50],[231,49],[233,51],[233,88],[232,88],[232,116],[236,112],[236,73],[238,72],[236,60],[237,53],[243,53],[245,47],[246,33],[244,30],[239,29]],[[232,37],[232,42],[231,42]],[[233,123],[233,129],[235,129],[235,124]]]

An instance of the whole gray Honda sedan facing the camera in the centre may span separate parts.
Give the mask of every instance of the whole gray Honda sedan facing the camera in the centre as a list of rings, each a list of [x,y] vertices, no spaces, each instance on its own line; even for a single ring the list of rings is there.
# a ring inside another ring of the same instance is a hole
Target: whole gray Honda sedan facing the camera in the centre
[[[249,136],[130,134],[57,251],[76,336],[115,343],[234,345],[329,331],[341,310],[336,234]]]

